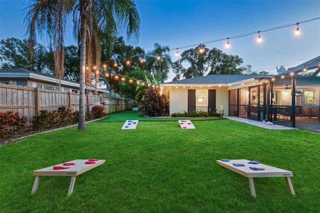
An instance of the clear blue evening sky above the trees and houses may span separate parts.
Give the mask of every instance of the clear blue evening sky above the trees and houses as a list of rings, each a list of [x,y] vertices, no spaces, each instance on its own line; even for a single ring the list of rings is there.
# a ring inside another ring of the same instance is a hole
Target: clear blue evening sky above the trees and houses
[[[0,0],[0,39],[25,38],[22,9],[28,0]],[[320,17],[320,0],[135,0],[141,18],[138,42],[145,51],[153,49],[155,42],[169,45],[172,61],[176,48],[206,41],[231,37],[247,32],[257,32],[271,27],[296,23]],[[320,55],[320,19],[299,24],[300,35],[294,35],[296,25],[207,43],[227,54],[243,58],[243,65],[251,64],[253,70],[275,74],[275,66],[286,68],[298,65]],[[68,26],[65,44],[76,44]],[[120,33],[119,35],[124,35]],[[46,45],[46,39],[38,38]],[[188,48],[192,48],[188,47]],[[179,48],[178,51],[188,49]],[[173,73],[169,74],[170,80]],[[167,80],[167,81],[168,81]]]

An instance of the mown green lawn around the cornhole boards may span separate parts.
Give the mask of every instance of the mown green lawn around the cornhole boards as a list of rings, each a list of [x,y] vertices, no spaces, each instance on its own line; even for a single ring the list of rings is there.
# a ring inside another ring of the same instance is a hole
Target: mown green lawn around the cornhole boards
[[[117,116],[117,115],[115,115]],[[133,118],[129,118],[133,119]],[[228,119],[139,120],[86,124],[38,134],[0,147],[1,212],[319,212],[320,134],[269,130]],[[105,163],[76,177],[32,171],[72,159]],[[249,159],[291,170],[296,195],[282,177],[248,179],[215,160]]]

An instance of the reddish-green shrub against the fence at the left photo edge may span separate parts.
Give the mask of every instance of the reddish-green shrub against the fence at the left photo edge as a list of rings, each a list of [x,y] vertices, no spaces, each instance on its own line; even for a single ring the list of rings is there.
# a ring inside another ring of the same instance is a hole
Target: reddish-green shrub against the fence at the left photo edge
[[[19,112],[0,112],[0,137],[7,138],[14,132],[20,131],[27,121],[26,116],[19,116]]]

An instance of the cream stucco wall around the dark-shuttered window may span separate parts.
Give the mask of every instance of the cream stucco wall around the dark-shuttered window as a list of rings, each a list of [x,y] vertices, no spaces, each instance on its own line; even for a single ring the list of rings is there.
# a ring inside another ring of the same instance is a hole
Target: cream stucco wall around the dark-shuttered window
[[[178,86],[177,88],[171,86],[169,88],[169,107],[170,114],[174,112],[183,112],[183,110],[187,111],[188,109],[188,89],[215,89],[216,90],[216,98],[215,98],[215,107],[216,111],[220,113],[220,105],[223,106],[224,114],[228,115],[228,88],[227,87],[199,87],[199,86]],[[207,111],[207,107],[196,107],[197,110]]]

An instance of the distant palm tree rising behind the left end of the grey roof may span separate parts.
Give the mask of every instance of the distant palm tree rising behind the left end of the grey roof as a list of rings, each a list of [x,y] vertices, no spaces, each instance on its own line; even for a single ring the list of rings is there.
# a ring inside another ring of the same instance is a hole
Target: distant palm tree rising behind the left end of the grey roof
[[[170,47],[168,45],[161,46],[159,43],[153,44],[153,50],[147,52],[146,64],[149,73],[158,73],[161,76],[161,80],[168,78],[169,68],[172,64],[170,56]]]

